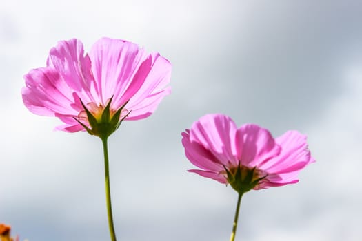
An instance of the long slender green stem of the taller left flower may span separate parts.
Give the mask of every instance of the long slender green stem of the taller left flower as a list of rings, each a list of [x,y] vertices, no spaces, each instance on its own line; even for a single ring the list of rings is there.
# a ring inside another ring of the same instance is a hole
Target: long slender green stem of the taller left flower
[[[114,232],[112,203],[110,200],[110,173],[108,163],[108,137],[101,138],[104,153],[104,176],[105,176],[105,198],[107,200],[108,226],[110,228],[110,240],[116,241],[116,233]]]

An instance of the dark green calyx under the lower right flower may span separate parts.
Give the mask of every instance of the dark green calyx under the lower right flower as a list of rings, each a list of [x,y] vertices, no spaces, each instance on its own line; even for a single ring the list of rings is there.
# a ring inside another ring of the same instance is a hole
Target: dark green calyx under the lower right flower
[[[268,176],[268,174],[263,175],[257,167],[245,167],[240,165],[240,163],[237,167],[231,167],[229,169],[224,166],[224,169],[228,183],[239,194],[250,191]]]

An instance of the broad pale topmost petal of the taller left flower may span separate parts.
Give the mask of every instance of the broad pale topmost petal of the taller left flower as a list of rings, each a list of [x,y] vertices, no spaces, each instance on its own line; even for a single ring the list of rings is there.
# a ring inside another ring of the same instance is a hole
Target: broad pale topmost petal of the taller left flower
[[[114,96],[113,109],[121,107],[143,85],[152,59],[137,44],[120,39],[99,39],[90,51],[97,92],[105,102]]]

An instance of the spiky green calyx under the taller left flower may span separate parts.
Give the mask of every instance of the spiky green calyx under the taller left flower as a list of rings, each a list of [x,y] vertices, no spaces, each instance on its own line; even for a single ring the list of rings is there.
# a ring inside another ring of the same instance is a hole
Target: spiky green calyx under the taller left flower
[[[100,138],[108,138],[113,132],[115,132],[119,125],[121,125],[122,121],[130,114],[128,112],[121,118],[121,113],[123,109],[125,109],[125,105],[127,105],[128,101],[124,103],[117,111],[112,111],[110,109],[110,104],[112,102],[113,96],[108,101],[107,105],[105,105],[104,109],[101,110],[101,113],[92,113],[90,110],[84,105],[83,101],[81,101],[81,105],[83,106],[84,112],[86,112],[88,123],[90,127],[81,123],[77,118],[74,118],[86,131],[94,136],[99,136]],[[121,118],[121,119],[120,119]]]

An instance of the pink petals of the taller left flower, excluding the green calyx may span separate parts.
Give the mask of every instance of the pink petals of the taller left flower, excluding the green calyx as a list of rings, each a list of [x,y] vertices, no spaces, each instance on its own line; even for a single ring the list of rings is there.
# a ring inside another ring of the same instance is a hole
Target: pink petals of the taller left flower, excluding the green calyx
[[[24,76],[23,103],[34,114],[56,116],[65,123],[56,129],[84,131],[84,125],[90,127],[84,107],[95,118],[101,118],[108,104],[111,117],[126,104],[117,121],[150,116],[170,94],[170,74],[167,59],[128,41],[99,39],[89,54],[78,39],[59,41],[46,67]]]

